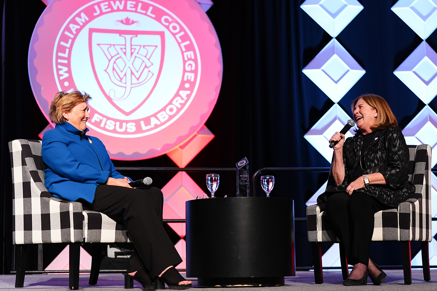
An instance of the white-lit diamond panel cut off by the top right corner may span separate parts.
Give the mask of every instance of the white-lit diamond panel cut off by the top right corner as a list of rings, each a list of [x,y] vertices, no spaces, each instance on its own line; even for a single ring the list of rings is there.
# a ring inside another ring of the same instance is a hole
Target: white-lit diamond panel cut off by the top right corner
[[[392,11],[422,39],[427,39],[437,27],[436,0],[399,0]]]

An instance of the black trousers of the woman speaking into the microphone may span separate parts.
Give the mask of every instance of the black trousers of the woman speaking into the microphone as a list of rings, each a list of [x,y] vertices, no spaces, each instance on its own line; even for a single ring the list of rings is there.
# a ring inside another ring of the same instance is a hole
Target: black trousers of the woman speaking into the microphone
[[[343,242],[347,264],[369,264],[369,249],[375,225],[375,213],[392,207],[373,197],[352,192],[331,195],[326,216],[336,236]]]

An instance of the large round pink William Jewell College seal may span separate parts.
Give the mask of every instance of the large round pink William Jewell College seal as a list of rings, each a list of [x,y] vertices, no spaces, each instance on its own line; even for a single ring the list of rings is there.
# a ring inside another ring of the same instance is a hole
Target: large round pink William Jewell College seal
[[[35,26],[28,66],[47,120],[56,92],[93,97],[89,134],[117,160],[160,156],[189,140],[222,81],[217,35],[194,0],[53,0]]]

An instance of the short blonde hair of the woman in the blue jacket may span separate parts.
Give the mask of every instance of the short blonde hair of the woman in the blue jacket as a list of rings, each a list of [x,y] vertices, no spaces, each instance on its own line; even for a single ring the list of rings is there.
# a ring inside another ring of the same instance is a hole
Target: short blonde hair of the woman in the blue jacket
[[[55,94],[52,103],[50,104],[49,117],[53,123],[62,124],[67,120],[62,115],[63,112],[70,112],[77,104],[90,100],[91,97],[85,92],[77,90],[69,93],[61,91]]]

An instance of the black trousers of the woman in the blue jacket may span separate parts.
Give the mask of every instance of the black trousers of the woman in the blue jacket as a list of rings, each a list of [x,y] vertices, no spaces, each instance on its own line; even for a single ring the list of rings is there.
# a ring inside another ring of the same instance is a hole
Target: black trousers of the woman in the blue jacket
[[[166,267],[176,267],[182,262],[162,226],[160,189],[99,185],[94,202],[84,208],[102,212],[127,227],[129,240],[136,249],[129,258],[128,273],[146,270],[154,278]]]

